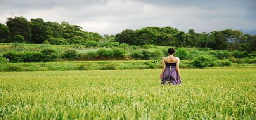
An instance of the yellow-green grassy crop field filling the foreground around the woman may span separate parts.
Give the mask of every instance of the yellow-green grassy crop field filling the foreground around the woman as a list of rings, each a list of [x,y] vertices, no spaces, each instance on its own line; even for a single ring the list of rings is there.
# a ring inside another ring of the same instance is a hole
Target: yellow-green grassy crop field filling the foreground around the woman
[[[256,118],[256,69],[0,72],[1,120]]]

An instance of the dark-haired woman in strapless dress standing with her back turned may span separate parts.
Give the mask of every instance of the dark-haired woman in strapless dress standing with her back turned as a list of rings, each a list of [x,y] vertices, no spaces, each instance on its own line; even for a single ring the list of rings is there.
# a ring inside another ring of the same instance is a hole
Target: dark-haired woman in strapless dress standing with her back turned
[[[167,52],[169,56],[163,57],[163,68],[159,76],[161,84],[181,84],[180,58],[173,56],[175,53],[173,48],[169,48]]]

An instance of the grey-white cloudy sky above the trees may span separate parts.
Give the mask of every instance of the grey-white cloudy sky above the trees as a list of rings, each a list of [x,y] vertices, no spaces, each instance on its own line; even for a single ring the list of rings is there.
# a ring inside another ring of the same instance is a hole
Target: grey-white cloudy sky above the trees
[[[256,0],[0,0],[0,22],[14,16],[67,21],[102,35],[150,26],[256,34]]]

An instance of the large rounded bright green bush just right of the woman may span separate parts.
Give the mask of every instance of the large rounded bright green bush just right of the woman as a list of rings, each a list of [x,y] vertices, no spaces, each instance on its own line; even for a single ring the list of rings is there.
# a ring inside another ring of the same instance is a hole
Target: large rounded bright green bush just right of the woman
[[[216,58],[211,55],[200,55],[193,59],[192,64],[195,68],[212,67],[217,65],[215,60]]]

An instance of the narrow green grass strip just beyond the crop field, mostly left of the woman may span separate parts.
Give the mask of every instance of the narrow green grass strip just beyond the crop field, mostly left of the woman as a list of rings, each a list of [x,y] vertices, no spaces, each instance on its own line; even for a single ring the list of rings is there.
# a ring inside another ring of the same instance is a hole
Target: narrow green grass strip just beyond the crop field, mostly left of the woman
[[[187,67],[189,60],[182,60],[181,68]],[[64,71],[64,70],[126,70],[157,69],[161,63],[151,60],[109,60],[109,61],[65,61],[37,63],[2,63],[0,71]]]

